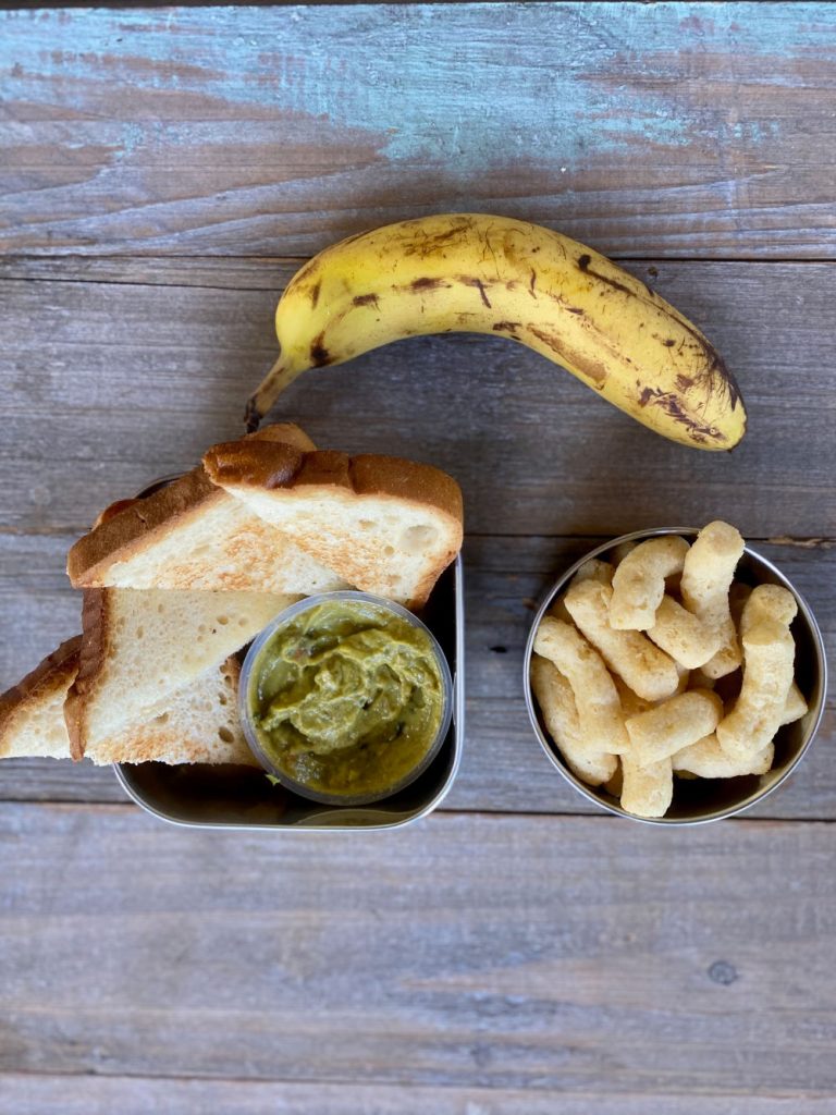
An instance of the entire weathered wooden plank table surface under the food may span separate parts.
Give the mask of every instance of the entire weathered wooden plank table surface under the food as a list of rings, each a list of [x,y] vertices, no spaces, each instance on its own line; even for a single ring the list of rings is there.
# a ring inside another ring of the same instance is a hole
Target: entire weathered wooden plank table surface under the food
[[[836,1111],[836,717],[745,818],[592,811],[527,723],[533,601],[596,540],[725,517],[836,641],[836,8],[0,12],[0,689],[78,629],[101,506],[235,436],[300,262],[479,210],[700,324],[700,454],[499,339],[311,374],[276,416],[465,491],[466,754],[389,834],[168,827],[109,769],[0,770],[0,1109]]]

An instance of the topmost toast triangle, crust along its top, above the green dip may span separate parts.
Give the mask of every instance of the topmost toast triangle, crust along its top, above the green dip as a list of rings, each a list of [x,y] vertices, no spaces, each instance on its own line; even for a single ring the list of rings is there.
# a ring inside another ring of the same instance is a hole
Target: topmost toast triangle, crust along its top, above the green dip
[[[280,442],[216,445],[215,484],[366,592],[421,607],[461,545],[458,484],[400,457],[303,453]]]

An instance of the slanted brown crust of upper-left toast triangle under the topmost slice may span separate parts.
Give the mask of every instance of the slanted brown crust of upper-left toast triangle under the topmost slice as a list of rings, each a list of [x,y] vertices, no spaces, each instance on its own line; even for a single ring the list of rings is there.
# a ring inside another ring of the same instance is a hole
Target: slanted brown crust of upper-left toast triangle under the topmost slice
[[[308,435],[292,423],[265,426],[242,442],[270,444],[275,439],[276,444],[298,447],[295,452],[314,447]],[[118,507],[114,504],[70,547],[67,555],[70,583],[75,589],[99,585],[101,574],[114,562],[127,560],[182,523],[202,515],[211,503],[224,498],[226,494],[198,467],[143,500],[125,501],[127,506],[108,514]]]

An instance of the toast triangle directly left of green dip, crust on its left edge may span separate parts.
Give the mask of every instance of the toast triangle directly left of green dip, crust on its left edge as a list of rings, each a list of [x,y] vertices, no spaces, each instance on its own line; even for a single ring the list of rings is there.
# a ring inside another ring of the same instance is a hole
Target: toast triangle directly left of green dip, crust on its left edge
[[[123,728],[249,642],[295,597],[270,592],[86,589],[78,673],[64,712],[72,757]]]

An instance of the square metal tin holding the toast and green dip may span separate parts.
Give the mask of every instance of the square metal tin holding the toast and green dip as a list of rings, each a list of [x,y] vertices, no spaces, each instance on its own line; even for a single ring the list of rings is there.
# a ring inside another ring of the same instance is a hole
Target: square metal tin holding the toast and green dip
[[[147,492],[148,489],[146,489]],[[255,767],[163,763],[116,764],[125,792],[147,813],[191,828],[242,831],[399,828],[426,816],[453,785],[465,735],[464,574],[458,556],[438,580],[421,619],[438,639],[453,675],[453,721],[424,774],[373,805],[319,805],[273,787]]]

